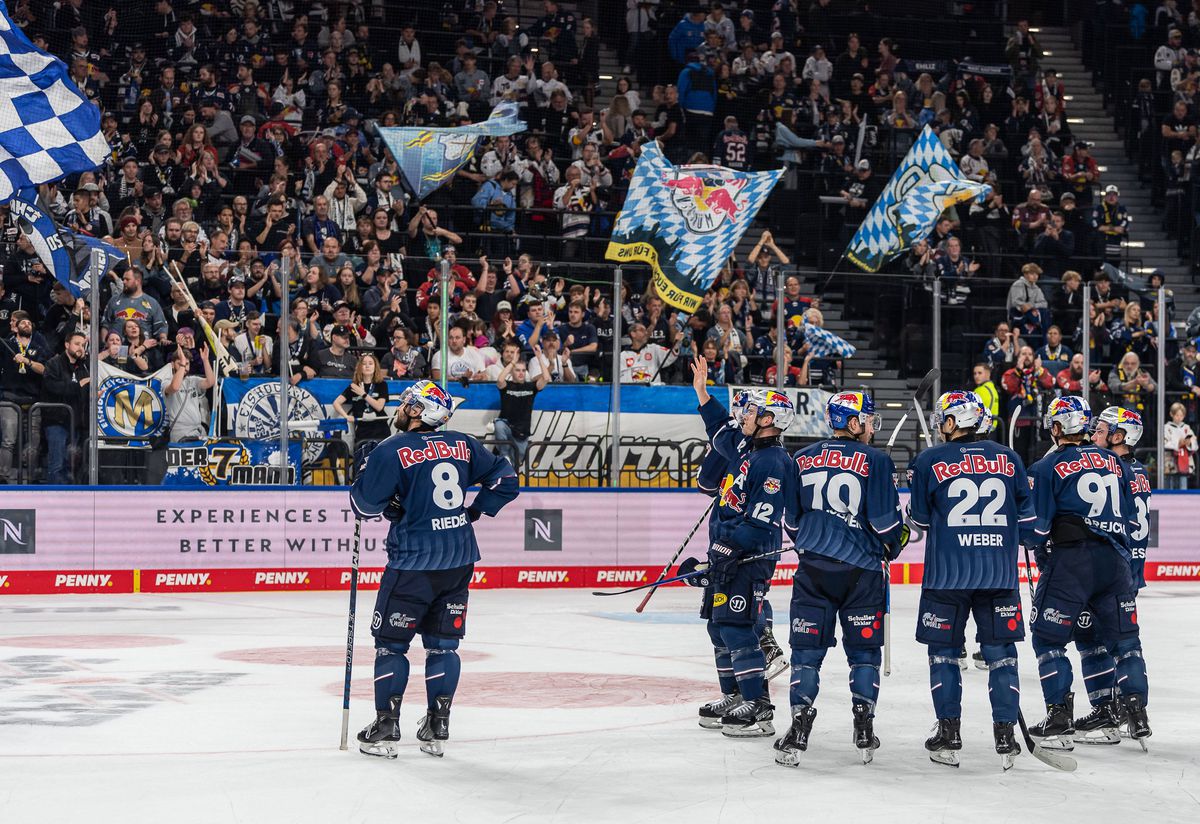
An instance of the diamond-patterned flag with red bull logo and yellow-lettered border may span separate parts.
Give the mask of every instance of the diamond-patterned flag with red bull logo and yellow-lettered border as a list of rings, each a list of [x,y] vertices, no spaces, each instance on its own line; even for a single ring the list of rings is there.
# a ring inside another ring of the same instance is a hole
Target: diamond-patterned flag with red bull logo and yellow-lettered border
[[[782,174],[673,166],[648,143],[605,258],[648,263],[664,302],[690,314]]]

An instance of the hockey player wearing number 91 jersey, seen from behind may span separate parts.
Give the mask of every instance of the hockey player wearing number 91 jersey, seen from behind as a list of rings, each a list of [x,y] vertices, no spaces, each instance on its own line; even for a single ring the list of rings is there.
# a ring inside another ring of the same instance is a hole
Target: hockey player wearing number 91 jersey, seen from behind
[[[1051,401],[1045,426],[1055,449],[1030,469],[1037,513],[1034,554],[1042,572],[1032,607],[1033,651],[1046,703],[1045,720],[1030,733],[1043,746],[1058,750],[1074,748],[1067,643],[1085,612],[1116,658],[1130,736],[1150,736],[1138,589],[1129,566],[1138,510],[1129,468],[1115,453],[1088,443],[1091,420],[1092,410],[1082,398]]]

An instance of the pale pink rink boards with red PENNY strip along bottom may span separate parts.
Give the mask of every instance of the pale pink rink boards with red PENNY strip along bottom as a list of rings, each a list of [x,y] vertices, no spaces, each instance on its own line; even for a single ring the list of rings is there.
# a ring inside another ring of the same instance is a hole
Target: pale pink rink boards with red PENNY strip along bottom
[[[694,491],[527,489],[476,524],[474,587],[620,589],[654,581],[703,515]],[[1200,581],[1200,494],[1156,493],[1148,581]],[[364,522],[359,583],[378,587],[389,524]],[[0,595],[347,589],[344,489],[22,489],[0,509]],[[683,557],[704,552],[704,528]],[[892,565],[920,583],[917,534]],[[794,555],[775,572],[791,582]],[[1024,569],[1022,569],[1024,573]],[[1034,576],[1036,576],[1034,571]]]

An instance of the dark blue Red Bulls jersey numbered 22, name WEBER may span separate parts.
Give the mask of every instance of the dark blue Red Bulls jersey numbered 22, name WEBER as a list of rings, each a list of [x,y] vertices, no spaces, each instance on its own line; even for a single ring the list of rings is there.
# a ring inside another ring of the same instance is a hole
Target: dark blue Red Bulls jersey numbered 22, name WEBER
[[[928,449],[908,469],[908,517],[925,530],[924,589],[1016,589],[1033,495],[1016,452],[994,440]]]

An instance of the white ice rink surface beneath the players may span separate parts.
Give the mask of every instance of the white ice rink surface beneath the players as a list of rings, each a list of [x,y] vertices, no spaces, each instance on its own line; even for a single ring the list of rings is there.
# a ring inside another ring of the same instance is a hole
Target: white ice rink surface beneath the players
[[[1139,613],[1151,676],[1150,753],[1075,748],[1079,770],[992,751],[986,673],[964,673],[958,770],[922,747],[934,721],[916,587],[894,590],[893,674],[864,766],[851,745],[846,663],[830,651],[799,769],[772,740],[696,726],[715,697],[694,590],[473,593],[444,759],[416,748],[424,654],[414,660],[396,760],[353,733],[373,716],[360,599],[352,750],[337,750],[344,593],[28,596],[0,600],[0,822],[1198,822],[1200,585],[1156,584]],[[788,588],[773,602],[776,632]],[[366,618],[364,618],[366,617]],[[1028,644],[1022,706],[1042,699]],[[1078,690],[1078,658],[1076,658]],[[774,686],[786,728],[785,678]],[[1080,702],[1082,703],[1082,700]],[[1082,712],[1076,712],[1082,715]]]

